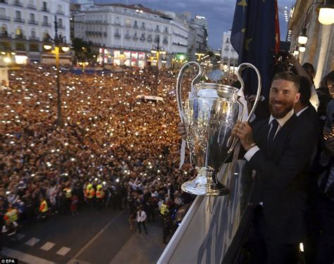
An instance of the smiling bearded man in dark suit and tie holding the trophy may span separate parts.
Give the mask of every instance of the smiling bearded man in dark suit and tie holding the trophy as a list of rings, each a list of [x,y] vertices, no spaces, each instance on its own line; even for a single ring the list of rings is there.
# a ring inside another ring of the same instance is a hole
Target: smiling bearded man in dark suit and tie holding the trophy
[[[247,151],[247,168],[256,171],[252,263],[297,264],[305,233],[308,173],[316,148],[314,130],[302,127],[293,110],[299,86],[294,73],[278,73],[269,96],[271,117],[254,127],[241,122],[233,128]]]

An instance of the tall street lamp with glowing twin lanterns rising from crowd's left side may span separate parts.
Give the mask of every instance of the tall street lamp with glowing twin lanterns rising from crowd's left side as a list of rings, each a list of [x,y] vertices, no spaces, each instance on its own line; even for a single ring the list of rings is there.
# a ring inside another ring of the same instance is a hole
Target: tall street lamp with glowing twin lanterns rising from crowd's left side
[[[47,51],[51,51],[52,49],[52,42],[54,44],[54,53],[56,56],[56,70],[57,70],[57,119],[56,125],[63,127],[63,115],[61,114],[61,70],[59,68],[59,48],[62,51],[67,52],[70,50],[70,47],[65,42],[65,37],[58,36],[58,23],[57,23],[57,16],[54,16],[54,39],[47,35],[47,42],[43,45],[44,49]]]

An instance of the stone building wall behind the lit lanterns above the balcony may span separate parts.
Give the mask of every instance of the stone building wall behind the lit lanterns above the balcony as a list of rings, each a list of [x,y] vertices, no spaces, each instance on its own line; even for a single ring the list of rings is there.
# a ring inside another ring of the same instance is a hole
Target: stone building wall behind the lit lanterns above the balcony
[[[318,7],[315,0],[297,0],[290,11],[290,51],[299,49],[298,37],[306,28],[307,44],[304,52],[299,52],[299,61],[311,63],[316,69],[314,84],[319,83],[334,68],[334,27],[318,22]]]

